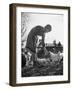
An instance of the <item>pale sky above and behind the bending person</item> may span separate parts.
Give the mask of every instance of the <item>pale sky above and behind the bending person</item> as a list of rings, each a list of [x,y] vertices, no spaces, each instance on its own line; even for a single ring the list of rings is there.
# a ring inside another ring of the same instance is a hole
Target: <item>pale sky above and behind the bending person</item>
[[[24,26],[24,21],[25,26]],[[52,14],[52,13],[24,13],[21,14],[22,27],[26,27],[26,32],[22,39],[26,39],[30,30],[37,26],[45,26],[50,24],[52,31],[45,35],[45,43],[52,43],[54,40],[58,43],[59,41],[63,44],[64,39],[64,16],[63,14]],[[25,29],[24,29],[25,30]]]

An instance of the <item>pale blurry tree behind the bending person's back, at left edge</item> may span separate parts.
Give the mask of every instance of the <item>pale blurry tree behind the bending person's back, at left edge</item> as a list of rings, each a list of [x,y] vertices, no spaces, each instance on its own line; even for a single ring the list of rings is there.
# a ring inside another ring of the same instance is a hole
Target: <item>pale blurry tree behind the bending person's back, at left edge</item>
[[[24,42],[26,42],[27,39],[26,37],[24,37],[24,35],[28,28],[28,23],[30,21],[29,19],[30,19],[29,14],[24,12],[21,13],[21,45],[22,46],[24,45]]]

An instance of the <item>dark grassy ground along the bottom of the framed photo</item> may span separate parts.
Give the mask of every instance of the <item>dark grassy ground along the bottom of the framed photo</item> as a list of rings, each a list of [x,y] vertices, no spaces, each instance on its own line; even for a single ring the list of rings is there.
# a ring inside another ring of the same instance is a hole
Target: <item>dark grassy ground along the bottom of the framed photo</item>
[[[63,61],[48,62],[47,65],[36,63],[33,67],[23,67],[22,77],[63,75]]]

